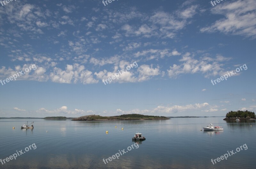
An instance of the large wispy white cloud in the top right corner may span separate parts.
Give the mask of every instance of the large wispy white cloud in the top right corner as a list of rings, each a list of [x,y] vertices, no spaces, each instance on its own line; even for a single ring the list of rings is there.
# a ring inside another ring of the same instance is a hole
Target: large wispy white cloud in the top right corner
[[[225,34],[256,38],[256,4],[255,0],[238,0],[223,3],[212,8],[212,13],[223,15],[211,26],[201,28],[201,32],[220,31]]]

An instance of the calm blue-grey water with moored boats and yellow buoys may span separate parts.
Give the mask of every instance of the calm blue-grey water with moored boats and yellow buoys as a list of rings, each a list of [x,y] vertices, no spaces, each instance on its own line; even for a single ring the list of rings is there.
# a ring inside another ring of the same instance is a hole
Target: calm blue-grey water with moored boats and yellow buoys
[[[35,150],[31,147],[16,160],[0,163],[0,168],[255,168],[255,120],[227,123],[223,118],[212,117],[211,122],[224,131],[208,132],[200,129],[207,126],[209,118],[117,122],[32,119],[33,130],[20,129],[26,119],[0,119],[1,159],[36,144]],[[105,165],[103,158],[134,144],[136,131],[146,137],[139,148]],[[212,158],[235,152],[243,144],[247,150],[212,164]]]

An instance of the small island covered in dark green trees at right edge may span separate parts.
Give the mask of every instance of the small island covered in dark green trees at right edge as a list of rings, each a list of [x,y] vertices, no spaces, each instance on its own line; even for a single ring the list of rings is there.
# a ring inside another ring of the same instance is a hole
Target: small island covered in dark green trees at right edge
[[[254,112],[251,112],[251,111],[241,111],[241,110],[238,110],[238,111],[229,111],[227,114],[226,114],[226,118],[224,118],[223,120],[234,120],[239,118],[239,119],[256,119],[255,118],[255,113]]]

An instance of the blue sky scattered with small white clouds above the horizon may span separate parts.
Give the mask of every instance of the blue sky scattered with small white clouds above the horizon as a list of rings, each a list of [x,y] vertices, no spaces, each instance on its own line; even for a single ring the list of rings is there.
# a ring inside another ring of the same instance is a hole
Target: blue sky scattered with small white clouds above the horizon
[[[0,116],[255,111],[255,10],[254,0],[0,4],[0,79],[26,73],[0,83]]]

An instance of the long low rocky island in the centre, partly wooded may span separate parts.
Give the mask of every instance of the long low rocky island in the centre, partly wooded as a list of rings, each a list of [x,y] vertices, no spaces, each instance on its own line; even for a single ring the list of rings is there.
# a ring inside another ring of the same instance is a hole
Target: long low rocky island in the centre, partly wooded
[[[140,114],[127,114],[120,116],[99,116],[99,115],[88,115],[81,116],[72,119],[73,121],[108,121],[108,120],[167,120],[168,117],[165,116],[147,116]]]

